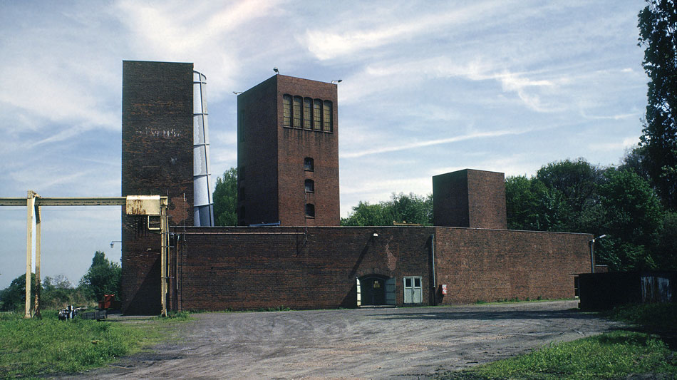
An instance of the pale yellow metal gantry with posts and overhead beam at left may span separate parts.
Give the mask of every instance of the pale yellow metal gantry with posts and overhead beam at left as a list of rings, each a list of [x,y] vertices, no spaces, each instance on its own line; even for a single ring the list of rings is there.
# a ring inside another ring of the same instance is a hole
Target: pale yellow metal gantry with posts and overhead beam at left
[[[33,212],[35,212],[35,277],[37,282],[33,312],[40,316],[40,209],[42,206],[125,206],[127,215],[160,217],[160,296],[162,316],[167,315],[167,259],[169,257],[169,223],[167,197],[128,195],[127,197],[41,197],[33,190],[25,198],[0,197],[0,206],[26,206],[26,313],[31,318],[31,272],[33,267]]]

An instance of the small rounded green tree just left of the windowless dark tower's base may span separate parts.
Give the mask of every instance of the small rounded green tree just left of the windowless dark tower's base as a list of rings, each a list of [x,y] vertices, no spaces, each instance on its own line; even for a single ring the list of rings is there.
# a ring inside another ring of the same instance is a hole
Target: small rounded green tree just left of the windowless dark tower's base
[[[80,280],[80,288],[96,300],[103,299],[104,294],[120,294],[120,277],[122,268],[117,262],[110,262],[105,253],[96,251],[92,265]]]

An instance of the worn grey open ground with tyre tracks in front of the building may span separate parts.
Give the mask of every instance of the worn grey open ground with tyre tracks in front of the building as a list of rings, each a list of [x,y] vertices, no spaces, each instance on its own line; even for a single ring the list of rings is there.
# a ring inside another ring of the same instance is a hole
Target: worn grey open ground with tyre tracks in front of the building
[[[95,379],[425,379],[618,326],[577,302],[195,314],[177,342]]]

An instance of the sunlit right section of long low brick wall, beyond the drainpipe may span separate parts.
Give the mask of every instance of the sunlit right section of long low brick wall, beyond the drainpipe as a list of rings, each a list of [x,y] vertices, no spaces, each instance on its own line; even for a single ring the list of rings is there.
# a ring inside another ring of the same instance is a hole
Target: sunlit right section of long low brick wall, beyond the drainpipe
[[[435,227],[435,272],[444,304],[574,297],[589,272],[592,235]]]

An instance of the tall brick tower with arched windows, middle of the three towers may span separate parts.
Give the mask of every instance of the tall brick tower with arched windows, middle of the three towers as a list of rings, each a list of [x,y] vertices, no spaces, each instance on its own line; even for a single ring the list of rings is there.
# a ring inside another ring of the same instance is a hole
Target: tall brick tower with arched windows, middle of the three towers
[[[237,97],[239,225],[334,226],[336,85],[276,75]]]

